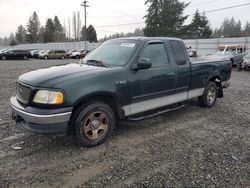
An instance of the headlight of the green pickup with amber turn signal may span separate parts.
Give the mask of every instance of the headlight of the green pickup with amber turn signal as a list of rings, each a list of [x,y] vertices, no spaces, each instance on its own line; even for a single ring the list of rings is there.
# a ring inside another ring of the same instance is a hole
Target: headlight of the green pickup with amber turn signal
[[[62,104],[63,93],[60,91],[39,90],[36,92],[33,102],[39,104]]]

